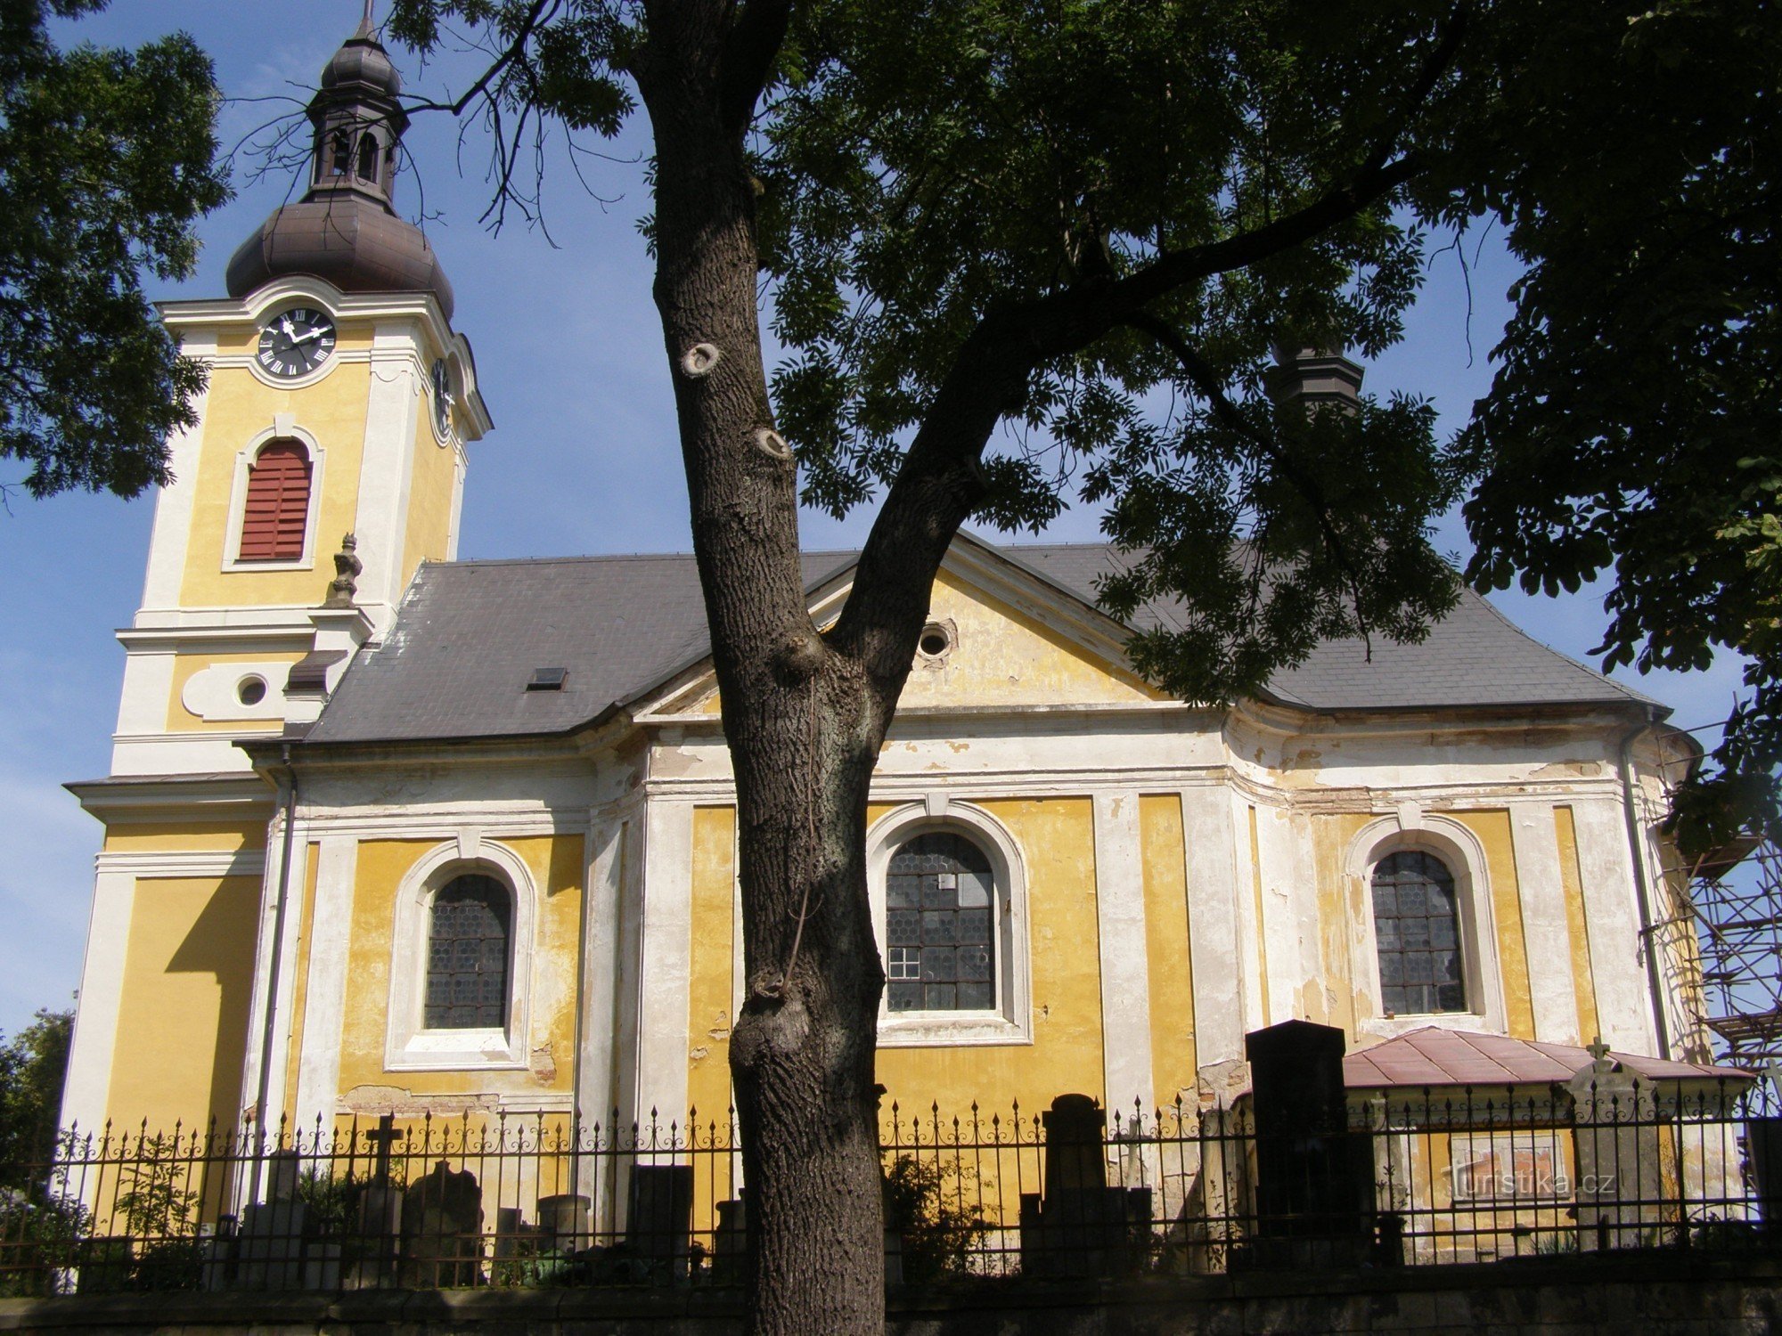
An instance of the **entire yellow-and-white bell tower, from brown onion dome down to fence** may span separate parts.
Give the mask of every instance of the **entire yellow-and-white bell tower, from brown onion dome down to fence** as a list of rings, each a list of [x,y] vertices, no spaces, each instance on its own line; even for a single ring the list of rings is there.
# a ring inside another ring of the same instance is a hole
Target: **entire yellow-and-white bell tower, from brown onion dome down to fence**
[[[456,556],[465,451],[492,424],[438,255],[392,207],[399,94],[367,5],[307,109],[305,194],[241,244],[225,297],[160,306],[208,385],[118,632],[110,775],[69,786],[105,825],[66,1094],[86,1128],[233,1126],[253,1097],[255,957],[307,853],[301,834],[296,873],[266,853],[280,793],[235,743],[301,732],[415,568]],[[132,1065],[157,1026],[216,1026],[232,1058]]]

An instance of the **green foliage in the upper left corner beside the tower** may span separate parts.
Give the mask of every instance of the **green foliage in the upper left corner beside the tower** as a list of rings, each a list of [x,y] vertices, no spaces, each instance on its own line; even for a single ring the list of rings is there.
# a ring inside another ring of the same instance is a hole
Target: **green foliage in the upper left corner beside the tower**
[[[189,37],[59,52],[43,21],[29,0],[0,12],[0,456],[30,463],[32,495],[130,497],[166,481],[166,438],[203,388],[141,273],[187,276],[194,221],[228,196],[217,93]]]

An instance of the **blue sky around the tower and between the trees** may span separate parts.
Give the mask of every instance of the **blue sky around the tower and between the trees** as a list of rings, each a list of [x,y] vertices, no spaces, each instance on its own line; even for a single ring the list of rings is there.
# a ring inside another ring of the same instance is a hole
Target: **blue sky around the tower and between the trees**
[[[233,144],[273,114],[294,109],[360,14],[360,0],[112,0],[107,12],[62,25],[64,39],[135,45],[185,29],[210,52],[232,102],[223,139]],[[462,64],[421,69],[394,52],[410,91],[438,91]],[[460,80],[462,82],[462,80]],[[611,162],[584,164],[599,191],[583,191],[560,159],[545,183],[542,230],[479,224],[488,201],[476,130],[460,151],[458,126],[421,118],[408,134],[417,171],[397,203],[421,214],[458,294],[456,326],[476,347],[495,431],[472,447],[462,556],[661,552],[691,545],[686,492],[661,331],[650,305],[650,265],[636,232],[645,208],[642,125]],[[191,281],[157,297],[223,296],[230,251],[290,191],[289,178],[249,180],[237,167],[237,198],[203,226],[203,257]],[[419,180],[417,180],[419,175]],[[556,244],[552,244],[552,239]],[[1468,253],[1474,246],[1468,244]],[[1515,267],[1486,240],[1467,281],[1458,257],[1431,265],[1410,337],[1369,369],[1369,388],[1433,395],[1443,428],[1463,420],[1490,378],[1486,353],[1508,312]],[[18,481],[0,463],[0,481]],[[0,1031],[14,1033],[37,1006],[68,1005],[80,974],[100,827],[61,787],[109,770],[127,625],[143,590],[153,499],[64,495],[12,501],[0,513]],[[845,522],[805,517],[805,545],[854,545],[870,509]],[[1092,540],[1096,515],[1062,517],[1055,542]],[[1451,517],[1438,534],[1461,552]],[[1500,595],[1527,631],[1575,657],[1600,638],[1600,591],[1547,600]],[[1677,709],[1673,723],[1723,718],[1737,666],[1655,673],[1639,689]]]

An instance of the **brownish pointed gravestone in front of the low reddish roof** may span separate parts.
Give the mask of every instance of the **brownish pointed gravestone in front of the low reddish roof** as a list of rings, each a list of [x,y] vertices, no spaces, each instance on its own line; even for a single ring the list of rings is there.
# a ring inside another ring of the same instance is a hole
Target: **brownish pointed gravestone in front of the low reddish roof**
[[[1584,1252],[1672,1242],[1661,1206],[1659,1120],[1652,1085],[1618,1063],[1600,1039],[1566,1081],[1577,1245]]]

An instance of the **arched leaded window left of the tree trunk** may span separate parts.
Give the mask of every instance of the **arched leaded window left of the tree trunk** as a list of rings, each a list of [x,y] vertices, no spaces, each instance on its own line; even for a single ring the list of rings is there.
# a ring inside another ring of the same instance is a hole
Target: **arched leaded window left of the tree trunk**
[[[428,932],[428,1030],[499,1030],[508,1022],[513,896],[494,876],[454,876],[433,896]]]

